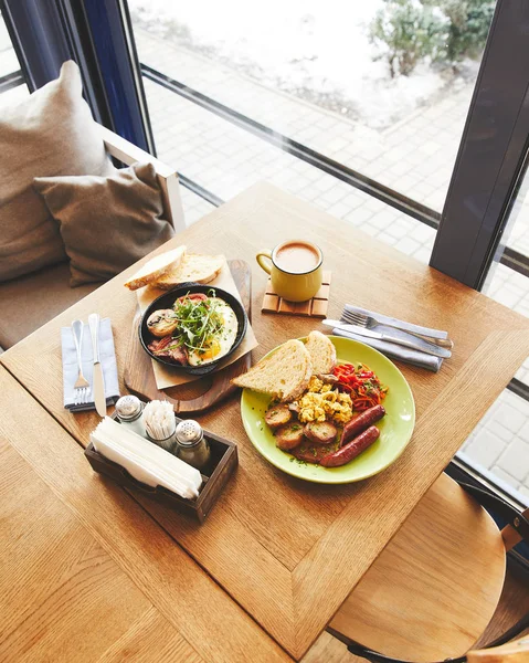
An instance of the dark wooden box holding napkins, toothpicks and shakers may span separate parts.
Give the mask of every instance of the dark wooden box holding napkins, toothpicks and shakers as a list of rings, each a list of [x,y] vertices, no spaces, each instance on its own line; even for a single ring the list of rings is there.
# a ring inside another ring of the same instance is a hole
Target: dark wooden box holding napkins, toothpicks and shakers
[[[176,419],[177,423],[181,421],[178,417]],[[109,476],[119,485],[139,491],[142,495],[147,495],[151,499],[156,499],[183,514],[189,514],[203,523],[239,464],[236,444],[207,430],[204,430],[204,438],[210,443],[211,459],[201,471],[203,483],[197,499],[184,499],[163,486],[154,488],[141,483],[134,478],[125,467],[98,453],[92,442],[85,449],[85,456],[96,472]]]

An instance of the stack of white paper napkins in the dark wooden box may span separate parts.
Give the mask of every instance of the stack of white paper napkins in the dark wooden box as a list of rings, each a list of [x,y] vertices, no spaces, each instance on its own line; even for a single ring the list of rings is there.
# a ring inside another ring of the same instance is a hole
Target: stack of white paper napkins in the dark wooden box
[[[187,499],[199,496],[202,476],[195,467],[109,417],[92,432],[91,442],[98,453],[125,467],[141,483],[163,486]]]

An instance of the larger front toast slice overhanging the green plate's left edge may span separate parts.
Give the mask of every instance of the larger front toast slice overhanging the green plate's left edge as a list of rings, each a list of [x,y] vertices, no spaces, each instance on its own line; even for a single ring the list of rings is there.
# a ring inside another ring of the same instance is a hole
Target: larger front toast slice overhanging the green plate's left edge
[[[300,340],[293,339],[232,382],[288,402],[301,396],[311,375],[310,355]]]

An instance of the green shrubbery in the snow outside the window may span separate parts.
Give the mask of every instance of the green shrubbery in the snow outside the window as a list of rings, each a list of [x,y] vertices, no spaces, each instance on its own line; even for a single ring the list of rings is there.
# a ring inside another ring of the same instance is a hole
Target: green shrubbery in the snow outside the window
[[[370,25],[373,43],[388,48],[391,76],[408,76],[430,57],[455,65],[480,55],[495,0],[384,0]]]

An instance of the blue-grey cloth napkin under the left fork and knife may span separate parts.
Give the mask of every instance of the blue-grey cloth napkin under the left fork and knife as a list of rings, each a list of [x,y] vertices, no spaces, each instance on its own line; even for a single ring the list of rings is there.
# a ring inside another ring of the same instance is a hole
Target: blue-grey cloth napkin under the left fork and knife
[[[64,407],[71,412],[94,410],[95,403],[93,400],[81,406],[75,404],[74,385],[78,376],[78,366],[72,327],[61,328],[61,347],[63,354]],[[81,358],[83,362],[83,375],[91,385],[91,392],[93,397],[94,390],[92,389],[92,386],[94,352],[92,350],[92,339],[88,325],[85,325],[83,328]],[[103,380],[105,382],[106,404],[113,406],[119,398],[119,382],[117,379],[116,351],[114,349],[110,318],[103,318],[99,323],[99,359],[103,368]]]

